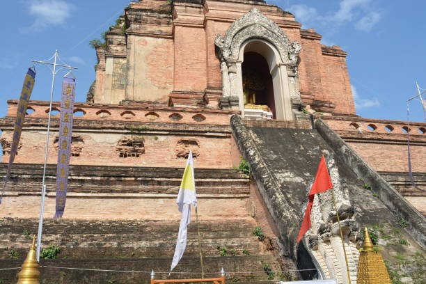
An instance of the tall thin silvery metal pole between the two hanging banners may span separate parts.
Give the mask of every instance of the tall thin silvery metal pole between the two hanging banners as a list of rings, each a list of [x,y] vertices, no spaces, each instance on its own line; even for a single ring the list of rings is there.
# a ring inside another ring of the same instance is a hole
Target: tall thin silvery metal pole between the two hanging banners
[[[43,207],[45,205],[45,179],[46,179],[46,165],[47,165],[47,154],[49,152],[49,134],[50,134],[50,118],[52,115],[52,101],[53,101],[53,93],[55,86],[55,74],[56,74],[56,60],[58,58],[58,49],[55,51],[54,58],[54,68],[52,70],[52,87],[50,88],[50,104],[49,104],[49,118],[47,120],[47,138],[46,138],[46,147],[45,147],[45,166],[43,168],[43,180],[42,180],[42,198],[41,198],[41,206],[40,206],[40,220],[38,221],[38,236],[37,236],[37,261],[40,261],[40,248],[41,248],[41,235],[42,235],[42,227],[43,227]]]

